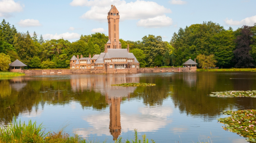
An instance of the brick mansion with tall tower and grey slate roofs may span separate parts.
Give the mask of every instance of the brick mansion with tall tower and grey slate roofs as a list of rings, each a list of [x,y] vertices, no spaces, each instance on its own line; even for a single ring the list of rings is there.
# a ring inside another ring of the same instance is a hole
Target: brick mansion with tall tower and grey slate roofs
[[[104,70],[104,73],[137,73],[140,63],[133,53],[129,52],[129,45],[126,49],[121,48],[119,41],[119,11],[111,5],[108,12],[108,42],[105,44],[105,51],[101,54],[89,55],[83,58],[81,55],[70,59],[70,69],[82,70]]]

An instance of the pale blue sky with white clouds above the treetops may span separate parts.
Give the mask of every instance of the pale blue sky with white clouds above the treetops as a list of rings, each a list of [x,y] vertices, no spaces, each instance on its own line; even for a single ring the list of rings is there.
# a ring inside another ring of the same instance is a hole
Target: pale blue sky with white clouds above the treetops
[[[119,10],[123,40],[150,34],[169,42],[179,28],[204,21],[234,30],[256,23],[256,0],[0,0],[0,20],[45,40],[74,42],[95,32],[108,36],[111,5]]]

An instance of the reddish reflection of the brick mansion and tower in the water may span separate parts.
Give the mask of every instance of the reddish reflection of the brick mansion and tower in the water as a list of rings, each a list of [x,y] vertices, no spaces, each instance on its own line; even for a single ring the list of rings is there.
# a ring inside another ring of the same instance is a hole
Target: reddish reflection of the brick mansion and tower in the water
[[[124,75],[97,75],[95,77],[72,77],[70,85],[73,92],[83,92],[84,90],[100,92],[105,95],[106,102],[109,104],[109,132],[116,140],[121,135],[121,116],[120,104],[123,97],[128,97],[133,93],[136,87],[111,86],[121,83],[139,83],[139,77],[127,77]]]

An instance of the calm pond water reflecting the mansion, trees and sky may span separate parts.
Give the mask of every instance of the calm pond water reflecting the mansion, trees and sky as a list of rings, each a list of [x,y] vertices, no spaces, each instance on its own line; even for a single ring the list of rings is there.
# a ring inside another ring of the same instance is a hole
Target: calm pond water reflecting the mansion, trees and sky
[[[111,84],[155,83],[151,87]],[[43,75],[0,80],[0,123],[13,116],[43,122],[46,130],[113,142],[134,129],[158,143],[246,143],[222,129],[223,110],[255,109],[256,98],[209,97],[211,92],[256,90],[255,72]],[[209,139],[210,140],[210,139]],[[211,141],[210,141],[211,142]]]

